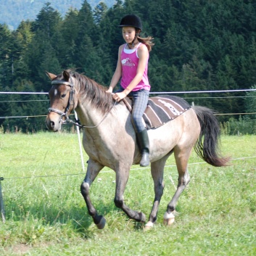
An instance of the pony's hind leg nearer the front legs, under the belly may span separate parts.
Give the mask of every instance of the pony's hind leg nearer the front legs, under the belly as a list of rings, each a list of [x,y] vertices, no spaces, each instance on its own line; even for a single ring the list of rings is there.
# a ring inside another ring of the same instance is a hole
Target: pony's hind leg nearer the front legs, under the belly
[[[149,221],[146,223],[145,229],[152,228],[157,220],[158,207],[164,191],[165,183],[163,181],[163,173],[165,162],[168,157],[162,158],[151,163],[151,175],[154,181],[154,204],[149,215]]]

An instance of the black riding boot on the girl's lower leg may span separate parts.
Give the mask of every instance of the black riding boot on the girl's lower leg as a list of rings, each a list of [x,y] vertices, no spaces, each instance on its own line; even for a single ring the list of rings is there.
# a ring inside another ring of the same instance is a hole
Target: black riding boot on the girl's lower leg
[[[149,136],[146,129],[140,133],[136,133],[139,149],[141,150],[141,162],[142,167],[149,165]]]

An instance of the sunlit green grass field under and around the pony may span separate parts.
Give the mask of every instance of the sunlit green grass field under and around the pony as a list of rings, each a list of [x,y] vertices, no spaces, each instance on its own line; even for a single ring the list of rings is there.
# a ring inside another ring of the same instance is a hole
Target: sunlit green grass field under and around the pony
[[[191,183],[171,227],[162,220],[178,178],[173,157],[165,167],[157,225],[150,231],[115,207],[115,173],[104,168],[91,186],[91,200],[107,220],[98,230],[80,195],[85,173],[77,135],[0,134],[6,212],[0,255],[256,255],[256,136],[221,141],[232,165],[213,168],[193,152]],[[86,165],[86,154],[83,159]],[[133,166],[125,203],[148,218],[153,199],[149,168]]]

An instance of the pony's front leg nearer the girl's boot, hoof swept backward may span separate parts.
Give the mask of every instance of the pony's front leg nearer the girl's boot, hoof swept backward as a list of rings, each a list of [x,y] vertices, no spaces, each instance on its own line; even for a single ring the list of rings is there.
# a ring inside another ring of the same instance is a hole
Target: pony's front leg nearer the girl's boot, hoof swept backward
[[[129,218],[139,221],[145,222],[146,216],[143,212],[138,212],[136,210],[131,210],[127,205],[124,203],[123,193],[125,191],[125,186],[128,181],[129,177],[129,168],[118,168],[116,169],[116,186],[115,186],[115,206],[122,209]]]

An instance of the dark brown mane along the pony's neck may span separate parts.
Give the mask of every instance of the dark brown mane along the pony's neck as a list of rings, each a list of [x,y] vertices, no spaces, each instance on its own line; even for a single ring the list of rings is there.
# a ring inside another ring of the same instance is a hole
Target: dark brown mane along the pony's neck
[[[110,111],[113,106],[112,95],[106,93],[106,89],[102,85],[77,72],[70,72],[70,76],[78,81],[78,94],[80,94],[82,102],[89,101],[93,107],[103,114]]]

